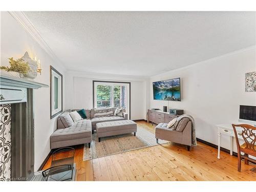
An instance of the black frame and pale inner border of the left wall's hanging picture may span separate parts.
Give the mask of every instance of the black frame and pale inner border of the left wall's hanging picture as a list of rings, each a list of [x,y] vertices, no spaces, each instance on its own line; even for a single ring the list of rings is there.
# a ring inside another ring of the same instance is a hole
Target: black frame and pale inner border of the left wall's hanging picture
[[[54,108],[54,78],[58,78],[58,108]],[[56,117],[58,114],[62,113],[63,102],[62,102],[62,74],[60,74],[54,67],[50,66],[50,118]]]

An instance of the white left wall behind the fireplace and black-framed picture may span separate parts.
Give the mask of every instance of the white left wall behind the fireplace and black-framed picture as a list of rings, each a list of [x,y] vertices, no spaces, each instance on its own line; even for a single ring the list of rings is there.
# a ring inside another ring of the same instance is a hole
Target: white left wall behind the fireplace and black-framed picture
[[[20,58],[28,51],[31,57],[40,59],[42,73],[35,81],[50,86],[50,65],[63,75],[63,96],[65,96],[65,68],[57,65],[32,36],[8,13],[1,12],[1,66],[7,66],[8,57]],[[50,88],[34,91],[35,115],[35,170],[39,168],[50,152],[50,135],[56,129],[56,118],[50,119]],[[65,109],[65,97],[63,97]]]

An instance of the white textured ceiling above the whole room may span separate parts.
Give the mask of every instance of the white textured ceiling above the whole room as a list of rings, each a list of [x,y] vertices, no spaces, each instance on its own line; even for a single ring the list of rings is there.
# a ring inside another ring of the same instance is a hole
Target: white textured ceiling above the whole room
[[[255,45],[255,12],[25,12],[67,70],[151,76]]]

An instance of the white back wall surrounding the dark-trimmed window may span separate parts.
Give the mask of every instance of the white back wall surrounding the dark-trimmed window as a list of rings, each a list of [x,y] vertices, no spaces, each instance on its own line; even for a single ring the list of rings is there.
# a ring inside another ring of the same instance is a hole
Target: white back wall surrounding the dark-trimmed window
[[[131,82],[131,119],[146,119],[145,79],[130,76],[67,72],[67,109],[93,108],[93,80]]]

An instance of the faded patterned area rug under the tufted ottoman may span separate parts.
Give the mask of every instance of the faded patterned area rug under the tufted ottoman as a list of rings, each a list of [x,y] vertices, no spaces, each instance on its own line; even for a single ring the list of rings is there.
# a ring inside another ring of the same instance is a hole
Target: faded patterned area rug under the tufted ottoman
[[[159,144],[167,143],[167,141],[159,140]],[[129,152],[158,145],[156,143],[155,134],[147,131],[143,126],[137,126],[136,136],[131,134],[123,134],[110,137],[102,137],[98,142],[97,133],[93,134],[91,148],[87,144],[83,146],[83,161],[96,159],[100,157],[110,156],[123,152]]]

